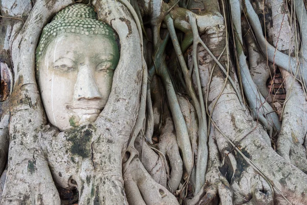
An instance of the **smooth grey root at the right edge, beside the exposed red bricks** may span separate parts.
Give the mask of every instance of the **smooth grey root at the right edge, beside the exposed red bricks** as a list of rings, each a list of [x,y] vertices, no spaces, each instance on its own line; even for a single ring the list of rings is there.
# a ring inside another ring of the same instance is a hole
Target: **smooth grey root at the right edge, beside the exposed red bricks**
[[[277,153],[307,173],[304,140],[307,130],[306,98],[301,84],[285,70],[281,70],[287,90],[282,127],[277,140]]]

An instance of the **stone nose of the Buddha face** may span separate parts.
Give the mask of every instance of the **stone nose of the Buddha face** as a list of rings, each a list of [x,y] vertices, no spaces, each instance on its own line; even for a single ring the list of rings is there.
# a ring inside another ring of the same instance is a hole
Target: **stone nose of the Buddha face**
[[[76,84],[74,87],[74,99],[101,99],[101,93],[89,64],[80,64]]]

